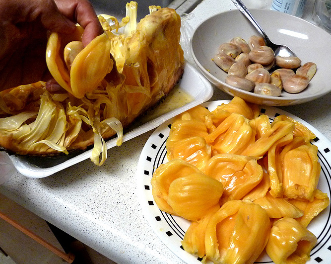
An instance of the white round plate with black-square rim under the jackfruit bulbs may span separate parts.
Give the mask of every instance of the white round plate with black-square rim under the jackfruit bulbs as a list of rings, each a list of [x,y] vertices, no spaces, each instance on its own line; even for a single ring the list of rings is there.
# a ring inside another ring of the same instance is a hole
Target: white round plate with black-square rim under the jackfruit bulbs
[[[221,103],[228,103],[229,100],[206,102],[203,105],[210,111],[215,109]],[[298,120],[308,127],[315,135],[316,139],[312,142],[319,149],[318,157],[322,166],[321,176],[318,188],[331,197],[331,142],[314,127],[302,119],[272,106],[263,107],[262,113],[267,114],[272,121],[275,116],[285,114]],[[185,252],[182,248],[181,241],[185,232],[190,225],[190,221],[178,216],[173,216],[161,211],[152,195],[150,180],[156,168],[166,163],[167,150],[166,140],[169,136],[172,120],[168,120],[159,126],[146,142],[137,167],[137,190],[138,199],[142,206],[144,216],[147,218],[151,228],[161,239],[161,241],[180,259],[188,264],[200,264],[201,260]],[[330,205],[318,215],[308,225],[308,229],[315,234],[318,244],[311,251],[311,260],[307,264],[330,263],[331,258],[331,211]],[[261,256],[256,263],[273,263],[266,255]]]

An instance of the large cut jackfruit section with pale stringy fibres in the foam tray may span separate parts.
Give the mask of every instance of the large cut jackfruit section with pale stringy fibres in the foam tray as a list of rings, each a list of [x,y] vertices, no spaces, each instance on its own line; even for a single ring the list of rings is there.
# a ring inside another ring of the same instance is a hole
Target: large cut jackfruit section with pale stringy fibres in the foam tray
[[[175,87],[184,72],[180,16],[150,6],[137,23],[137,3],[126,11],[120,22],[99,15],[104,33],[86,47],[80,25],[71,35],[50,32],[47,67],[66,92],[42,81],[0,91],[0,148],[52,156],[93,145],[91,160],[102,165],[105,140],[117,134],[120,145],[123,129]]]

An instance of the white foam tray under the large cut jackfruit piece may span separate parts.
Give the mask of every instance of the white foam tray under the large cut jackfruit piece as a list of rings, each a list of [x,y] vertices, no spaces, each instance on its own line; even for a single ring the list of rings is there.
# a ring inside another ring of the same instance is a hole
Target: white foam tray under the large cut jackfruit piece
[[[192,65],[186,64],[184,74],[178,84],[180,91],[185,91],[190,94],[194,100],[186,105],[163,114],[151,121],[148,121],[136,128],[133,128],[123,136],[123,142],[128,141],[136,136],[139,136],[157,126],[164,121],[184,112],[202,102],[207,101],[213,94],[211,84],[202,76],[202,74]],[[107,149],[116,147],[117,139],[107,141]],[[43,158],[43,157],[27,157],[27,156],[10,156],[14,167],[23,175],[31,178],[42,178],[50,176],[56,172],[62,171],[76,163],[89,159],[92,150],[85,151],[76,156],[61,155],[56,158]],[[106,161],[107,162],[107,161]],[[91,166],[95,166],[91,162]]]

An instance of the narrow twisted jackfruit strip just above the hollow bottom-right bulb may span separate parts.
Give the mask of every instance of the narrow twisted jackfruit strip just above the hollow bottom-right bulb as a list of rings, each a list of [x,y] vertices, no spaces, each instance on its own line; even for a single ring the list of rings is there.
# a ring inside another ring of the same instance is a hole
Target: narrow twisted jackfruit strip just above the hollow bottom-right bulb
[[[254,203],[259,204],[270,218],[291,217],[298,218],[303,215],[303,211],[289,203],[281,197],[273,197],[267,193],[265,197],[254,200]]]

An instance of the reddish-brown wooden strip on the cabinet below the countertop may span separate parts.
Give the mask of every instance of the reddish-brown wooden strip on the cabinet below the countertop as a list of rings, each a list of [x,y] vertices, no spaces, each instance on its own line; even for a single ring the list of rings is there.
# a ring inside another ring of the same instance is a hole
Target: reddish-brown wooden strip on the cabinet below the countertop
[[[22,231],[24,234],[28,235],[30,238],[32,238],[33,240],[35,240],[36,242],[38,242],[39,244],[41,244],[45,248],[49,249],[50,251],[52,251],[53,253],[55,253],[59,257],[61,257],[67,263],[72,263],[73,262],[75,256],[72,253],[66,254],[66,253],[62,252],[61,250],[54,247],[52,244],[48,243],[47,241],[45,241],[44,239],[42,239],[41,237],[39,237],[38,235],[36,235],[32,231],[26,229],[24,226],[20,225],[16,221],[10,219],[8,216],[3,214],[2,212],[0,212],[0,218],[2,218],[4,221],[9,223],[13,227],[17,228],[18,230]]]

